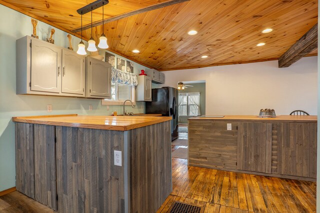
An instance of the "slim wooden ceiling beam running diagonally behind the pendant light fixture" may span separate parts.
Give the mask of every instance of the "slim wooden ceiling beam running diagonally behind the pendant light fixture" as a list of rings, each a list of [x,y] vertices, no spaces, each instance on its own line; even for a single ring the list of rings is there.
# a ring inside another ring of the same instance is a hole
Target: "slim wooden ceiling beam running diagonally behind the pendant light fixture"
[[[189,0],[168,0],[168,1],[161,2],[161,3],[156,3],[156,4],[153,4],[153,5],[150,5],[150,6],[146,6],[146,7],[135,9],[135,10],[132,10],[132,11],[129,11],[129,12],[126,12],[126,13],[119,14],[119,15],[114,15],[114,16],[109,17],[109,18],[105,18],[103,20],[103,23],[108,23],[108,22],[111,22],[111,21],[115,21],[115,20],[119,20],[121,18],[125,18],[125,17],[128,17],[128,16],[131,16],[131,15],[136,15],[136,14],[139,14],[139,13],[142,13],[142,12],[147,12],[147,11],[150,11],[150,10],[153,10],[153,9],[162,8],[162,7],[165,7],[165,6],[170,6],[172,4],[181,3],[181,2],[184,2],[184,1],[189,1]],[[95,21],[95,22],[92,23],[92,27],[99,26],[101,24],[102,24],[102,20]],[[86,24],[86,25],[82,26],[82,30],[89,29],[90,27],[91,27],[91,23],[90,24]],[[78,28],[75,28],[75,29],[72,30],[72,32],[79,32],[79,31],[81,31],[81,27],[78,27]]]

